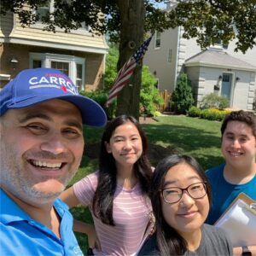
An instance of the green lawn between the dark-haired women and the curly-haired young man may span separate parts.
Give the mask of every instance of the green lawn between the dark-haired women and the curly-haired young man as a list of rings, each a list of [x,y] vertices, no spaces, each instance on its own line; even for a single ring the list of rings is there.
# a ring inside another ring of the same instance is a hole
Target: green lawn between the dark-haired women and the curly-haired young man
[[[149,143],[177,148],[191,154],[207,169],[223,161],[220,150],[220,122],[171,115],[158,118],[154,125],[143,125]]]

